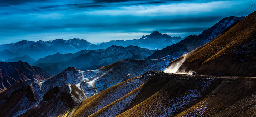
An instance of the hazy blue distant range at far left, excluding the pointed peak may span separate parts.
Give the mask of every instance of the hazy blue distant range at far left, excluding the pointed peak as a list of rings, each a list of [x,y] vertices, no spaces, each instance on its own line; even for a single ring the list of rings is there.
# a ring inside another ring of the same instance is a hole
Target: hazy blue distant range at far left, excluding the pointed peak
[[[22,40],[14,44],[6,44],[1,45],[0,51],[11,51],[12,53],[15,53],[14,56],[11,53],[11,55],[6,54],[6,56],[12,56],[12,58],[21,57],[24,55],[28,55],[31,58],[37,60],[39,58],[45,57],[47,55],[56,54],[57,52],[60,53],[75,53],[82,49],[97,49],[98,47],[94,44],[91,44],[87,42],[84,39],[69,39],[69,40],[63,40],[63,39],[56,39],[53,41],[27,41]],[[7,49],[7,50],[5,50]],[[5,52],[6,53],[6,52]],[[0,52],[1,54],[1,52]],[[3,60],[5,60],[7,57],[3,58],[0,57]],[[12,59],[8,57],[8,59]]]

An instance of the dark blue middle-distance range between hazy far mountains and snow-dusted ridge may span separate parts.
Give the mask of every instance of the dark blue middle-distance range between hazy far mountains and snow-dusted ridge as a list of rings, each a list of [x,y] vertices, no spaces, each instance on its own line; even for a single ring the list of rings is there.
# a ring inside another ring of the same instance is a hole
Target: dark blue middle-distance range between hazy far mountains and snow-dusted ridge
[[[81,50],[74,54],[54,54],[38,59],[33,65],[41,67],[51,75],[56,75],[69,66],[80,70],[97,69],[122,59],[144,59],[155,50],[138,46],[110,46],[99,50]]]

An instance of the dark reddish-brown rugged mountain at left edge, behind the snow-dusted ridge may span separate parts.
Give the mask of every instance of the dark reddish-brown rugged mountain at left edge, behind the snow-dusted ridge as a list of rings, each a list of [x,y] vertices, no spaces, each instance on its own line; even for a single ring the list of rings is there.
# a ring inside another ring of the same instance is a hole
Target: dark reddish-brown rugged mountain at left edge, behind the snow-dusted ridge
[[[26,62],[1,62],[0,61],[0,92],[14,85],[18,81],[28,79],[44,80],[51,77],[40,67],[30,66]]]

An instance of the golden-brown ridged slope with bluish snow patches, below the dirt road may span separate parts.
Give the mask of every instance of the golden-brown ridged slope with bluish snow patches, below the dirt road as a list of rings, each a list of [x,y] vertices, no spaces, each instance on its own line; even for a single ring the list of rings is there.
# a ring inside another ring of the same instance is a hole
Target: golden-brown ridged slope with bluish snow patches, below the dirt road
[[[209,117],[250,97],[255,83],[255,78],[148,71],[82,101],[74,117]]]

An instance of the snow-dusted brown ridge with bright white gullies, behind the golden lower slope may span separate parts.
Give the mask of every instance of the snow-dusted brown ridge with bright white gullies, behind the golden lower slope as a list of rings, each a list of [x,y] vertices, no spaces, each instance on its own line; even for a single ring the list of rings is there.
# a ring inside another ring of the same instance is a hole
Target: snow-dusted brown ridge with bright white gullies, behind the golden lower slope
[[[20,81],[0,93],[0,116],[59,116],[102,90],[145,73],[162,71],[172,60],[121,60],[97,70],[68,67],[60,74],[37,81]]]

